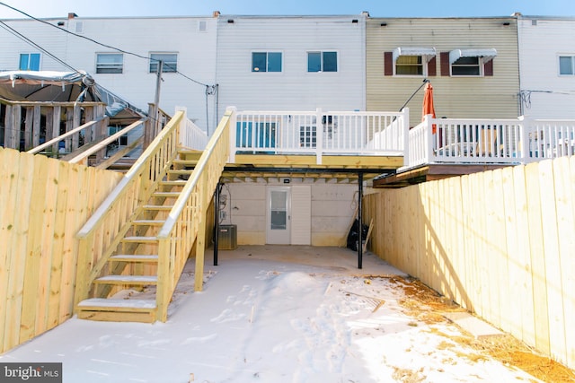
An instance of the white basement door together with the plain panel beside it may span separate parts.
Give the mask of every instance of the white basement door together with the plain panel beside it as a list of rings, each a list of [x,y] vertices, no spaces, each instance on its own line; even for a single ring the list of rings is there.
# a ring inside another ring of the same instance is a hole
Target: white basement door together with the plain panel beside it
[[[268,187],[266,243],[311,244],[311,187]]]

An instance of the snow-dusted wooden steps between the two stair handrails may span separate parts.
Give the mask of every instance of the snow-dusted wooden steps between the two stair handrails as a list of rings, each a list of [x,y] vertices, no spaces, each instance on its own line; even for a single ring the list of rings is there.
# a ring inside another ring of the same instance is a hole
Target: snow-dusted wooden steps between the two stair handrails
[[[156,320],[157,234],[190,178],[200,154],[178,151],[171,169],[157,183],[146,204],[137,208],[135,219],[108,259],[102,276],[93,280],[91,291],[95,297],[82,300],[76,306],[77,318],[148,323]],[[138,299],[138,295],[146,298]]]

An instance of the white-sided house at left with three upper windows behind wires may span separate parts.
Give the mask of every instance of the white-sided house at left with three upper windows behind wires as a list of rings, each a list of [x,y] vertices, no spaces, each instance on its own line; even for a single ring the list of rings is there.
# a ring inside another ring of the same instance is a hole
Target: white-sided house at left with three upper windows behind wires
[[[70,14],[44,21],[4,21],[13,30],[0,29],[0,70],[84,70],[96,83],[147,111],[155,100],[156,74],[155,62],[146,57],[157,57],[166,63],[160,108],[172,115],[176,106],[185,107],[202,129],[215,128],[217,97],[212,88],[207,94],[205,85],[216,81],[217,18]]]

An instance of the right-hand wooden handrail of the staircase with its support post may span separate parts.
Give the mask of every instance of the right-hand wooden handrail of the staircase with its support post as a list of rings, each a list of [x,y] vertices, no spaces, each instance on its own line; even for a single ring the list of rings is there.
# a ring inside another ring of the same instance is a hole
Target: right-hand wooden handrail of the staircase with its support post
[[[206,214],[229,157],[230,129],[234,125],[234,116],[234,109],[226,109],[224,117],[208,141],[206,149],[199,157],[196,167],[157,235],[158,320],[167,320],[168,304],[194,243],[196,243],[195,290],[200,291],[202,288]]]

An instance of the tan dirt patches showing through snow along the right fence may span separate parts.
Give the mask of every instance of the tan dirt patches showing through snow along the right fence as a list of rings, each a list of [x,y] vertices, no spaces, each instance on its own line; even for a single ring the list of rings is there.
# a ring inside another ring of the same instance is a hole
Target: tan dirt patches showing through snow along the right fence
[[[442,312],[465,311],[452,300],[442,297],[438,292],[433,291],[418,279],[403,278],[401,276],[386,278],[391,283],[396,284],[398,289],[403,290],[404,298],[399,303],[405,309],[405,313],[420,321],[428,324],[445,322],[447,319],[443,317]],[[447,335],[433,328],[431,331],[435,331],[438,335],[445,336],[457,344],[473,348],[477,353],[460,355],[471,361],[485,359],[482,355],[487,354],[506,365],[517,367],[536,379],[541,379],[548,383],[575,382],[575,371],[536,353],[511,335],[488,336],[475,339],[473,335]],[[440,346],[448,348],[451,344],[446,341],[442,342]],[[404,382],[418,381],[417,375],[408,376],[405,371],[396,371],[396,373],[406,379],[402,380]]]

